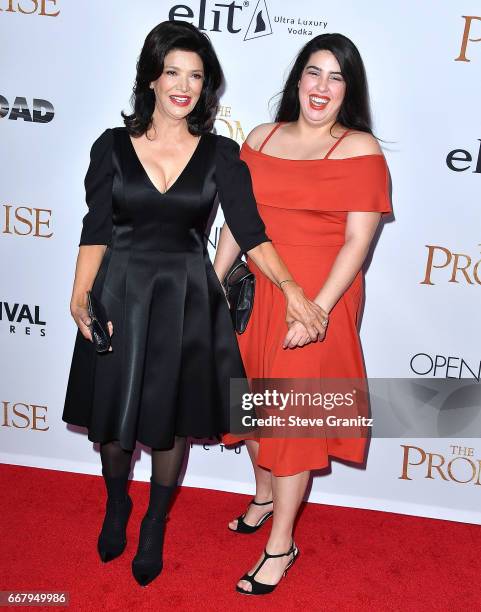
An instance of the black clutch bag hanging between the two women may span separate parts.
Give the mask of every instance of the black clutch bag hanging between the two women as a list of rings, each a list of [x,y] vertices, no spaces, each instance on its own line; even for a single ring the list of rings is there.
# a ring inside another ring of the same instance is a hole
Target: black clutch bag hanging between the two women
[[[232,324],[238,334],[243,334],[254,306],[256,277],[242,259],[237,260],[224,279],[229,301]]]

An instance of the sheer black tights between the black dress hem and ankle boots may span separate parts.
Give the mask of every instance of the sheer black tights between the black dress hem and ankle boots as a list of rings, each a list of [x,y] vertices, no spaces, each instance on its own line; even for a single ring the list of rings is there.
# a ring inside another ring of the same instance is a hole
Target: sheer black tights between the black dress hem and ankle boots
[[[159,485],[175,487],[184,461],[187,439],[175,436],[174,446],[168,450],[152,449],[152,481]],[[106,481],[125,481],[130,474],[132,451],[126,451],[118,440],[100,445],[102,474]],[[108,486],[107,486],[108,489]],[[109,495],[111,491],[109,491]]]

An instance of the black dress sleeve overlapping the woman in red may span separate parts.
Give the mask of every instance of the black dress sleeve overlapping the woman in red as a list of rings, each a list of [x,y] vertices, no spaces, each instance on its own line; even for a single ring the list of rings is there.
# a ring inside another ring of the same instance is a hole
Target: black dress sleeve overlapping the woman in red
[[[217,136],[216,146],[215,179],[222,211],[237,244],[246,253],[270,239],[257,211],[249,168],[239,158],[239,145]]]

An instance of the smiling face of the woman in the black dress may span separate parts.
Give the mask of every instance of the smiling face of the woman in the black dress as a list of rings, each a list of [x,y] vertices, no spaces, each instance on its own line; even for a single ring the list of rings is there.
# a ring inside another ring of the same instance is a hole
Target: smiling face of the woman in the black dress
[[[194,51],[174,49],[164,59],[164,69],[150,84],[155,107],[170,119],[184,119],[197,104],[204,85],[204,65]]]

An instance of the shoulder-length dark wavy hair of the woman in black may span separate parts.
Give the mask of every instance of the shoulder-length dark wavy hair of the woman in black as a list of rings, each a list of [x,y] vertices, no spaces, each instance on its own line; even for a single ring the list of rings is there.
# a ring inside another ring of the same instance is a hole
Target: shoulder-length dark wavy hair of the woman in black
[[[197,53],[204,64],[202,93],[187,116],[189,132],[195,136],[210,132],[219,103],[218,90],[223,82],[222,68],[210,40],[186,21],[163,21],[145,39],[137,61],[137,76],[131,97],[133,113],[122,112],[131,136],[142,136],[152,125],[155,94],[150,83],[159,78],[167,53],[174,49]]]

